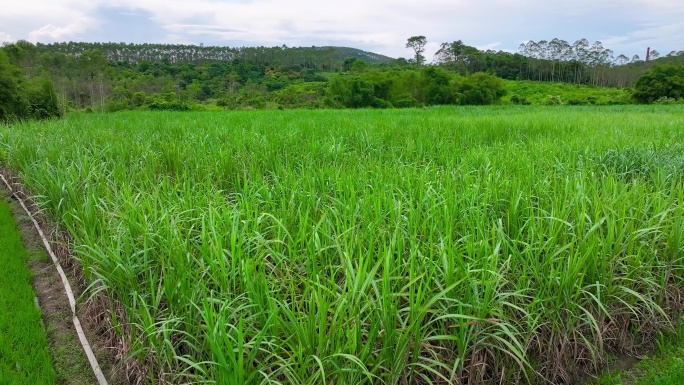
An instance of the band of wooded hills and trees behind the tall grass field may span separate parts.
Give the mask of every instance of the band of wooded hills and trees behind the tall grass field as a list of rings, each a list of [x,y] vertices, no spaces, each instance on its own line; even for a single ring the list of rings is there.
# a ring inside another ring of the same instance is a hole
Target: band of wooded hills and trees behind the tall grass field
[[[481,51],[460,40],[443,43],[435,63],[422,65],[426,43],[424,36],[408,40],[407,48],[415,53],[410,60],[341,47],[33,45],[19,41],[2,50],[29,80],[51,79],[66,108],[93,111],[495,104],[506,90],[492,76],[511,81],[627,87],[654,63],[684,64],[684,52],[658,58],[654,51],[651,59],[655,60],[647,62],[638,56],[616,58],[600,42],[589,44],[581,39],[570,44],[552,39],[530,41],[520,47],[520,53]],[[572,104],[631,101],[622,96],[605,97],[611,93],[598,98],[590,88],[577,90],[589,93],[572,97]],[[559,96],[552,91],[517,97],[546,104],[548,97]],[[506,101],[513,101],[514,92],[508,94]]]

